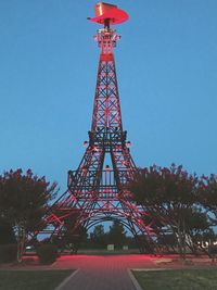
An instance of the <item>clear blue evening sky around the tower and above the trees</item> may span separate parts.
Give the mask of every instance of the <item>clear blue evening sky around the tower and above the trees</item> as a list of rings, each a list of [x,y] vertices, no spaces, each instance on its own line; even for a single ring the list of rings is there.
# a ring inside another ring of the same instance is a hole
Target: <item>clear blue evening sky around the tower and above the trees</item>
[[[0,0],[1,173],[30,167],[66,189],[91,123],[95,2]],[[217,173],[217,1],[112,3],[130,15],[115,60],[137,165]]]

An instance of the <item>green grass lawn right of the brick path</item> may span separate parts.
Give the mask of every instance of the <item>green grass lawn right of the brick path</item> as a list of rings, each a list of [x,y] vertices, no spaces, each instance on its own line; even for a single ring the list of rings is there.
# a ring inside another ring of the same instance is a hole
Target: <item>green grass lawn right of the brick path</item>
[[[214,290],[217,269],[133,270],[145,290]]]

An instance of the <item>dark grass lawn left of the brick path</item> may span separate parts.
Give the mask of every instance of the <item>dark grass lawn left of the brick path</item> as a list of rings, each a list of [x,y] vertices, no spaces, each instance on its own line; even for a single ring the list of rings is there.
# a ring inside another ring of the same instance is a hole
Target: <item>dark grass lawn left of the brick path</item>
[[[73,270],[0,270],[1,290],[53,290]]]

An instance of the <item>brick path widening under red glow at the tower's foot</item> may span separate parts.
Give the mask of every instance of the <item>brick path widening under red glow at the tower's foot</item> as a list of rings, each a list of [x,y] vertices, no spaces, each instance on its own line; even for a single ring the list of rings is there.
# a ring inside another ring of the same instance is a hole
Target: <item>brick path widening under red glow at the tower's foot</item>
[[[149,255],[62,256],[54,268],[79,268],[61,290],[135,290],[128,268],[156,267]]]

